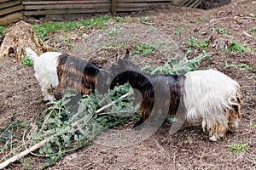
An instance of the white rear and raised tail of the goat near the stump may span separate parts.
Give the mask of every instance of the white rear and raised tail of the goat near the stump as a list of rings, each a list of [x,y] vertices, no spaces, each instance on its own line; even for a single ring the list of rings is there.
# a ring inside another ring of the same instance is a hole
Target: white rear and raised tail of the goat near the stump
[[[47,52],[38,57],[31,48],[26,48],[26,55],[32,59],[35,77],[38,80],[44,96],[44,100],[54,100],[53,90],[58,88],[57,57],[61,53]]]

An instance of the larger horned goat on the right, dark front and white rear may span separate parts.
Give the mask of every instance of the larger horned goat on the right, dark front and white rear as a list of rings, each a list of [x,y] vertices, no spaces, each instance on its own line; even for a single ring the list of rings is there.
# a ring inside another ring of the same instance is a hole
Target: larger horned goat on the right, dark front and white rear
[[[127,50],[125,57],[117,59],[108,73],[111,77],[116,76],[111,88],[129,82],[132,88],[141,92],[143,99],[139,111],[143,116],[135,127],[147,120],[154,105],[166,105],[166,98],[155,98],[155,89],[160,94],[170,93],[168,114],[175,115],[180,105],[187,122],[201,122],[204,131],[207,127],[211,141],[224,138],[227,130],[233,131],[238,127],[241,118],[240,86],[220,71],[210,69],[190,71],[184,75],[152,75],[131,63]]]

